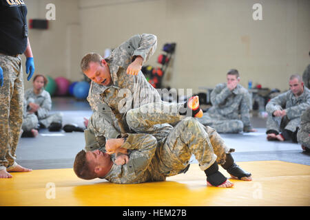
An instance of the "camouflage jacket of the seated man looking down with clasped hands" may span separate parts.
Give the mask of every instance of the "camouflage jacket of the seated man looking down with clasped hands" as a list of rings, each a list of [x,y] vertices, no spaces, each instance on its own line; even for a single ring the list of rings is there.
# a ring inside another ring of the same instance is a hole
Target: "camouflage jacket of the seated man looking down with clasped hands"
[[[272,98],[266,105],[266,111],[272,115],[273,111],[286,109],[287,118],[298,118],[310,106],[310,90],[304,87],[304,92],[296,98],[291,90]]]

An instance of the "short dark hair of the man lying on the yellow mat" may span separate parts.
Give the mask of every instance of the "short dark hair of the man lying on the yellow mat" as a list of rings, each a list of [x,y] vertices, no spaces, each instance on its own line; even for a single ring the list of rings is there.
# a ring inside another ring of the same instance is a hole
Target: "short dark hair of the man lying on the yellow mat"
[[[86,151],[82,150],[76,154],[73,165],[74,173],[81,179],[95,179],[96,173],[90,168],[90,163],[86,159]]]

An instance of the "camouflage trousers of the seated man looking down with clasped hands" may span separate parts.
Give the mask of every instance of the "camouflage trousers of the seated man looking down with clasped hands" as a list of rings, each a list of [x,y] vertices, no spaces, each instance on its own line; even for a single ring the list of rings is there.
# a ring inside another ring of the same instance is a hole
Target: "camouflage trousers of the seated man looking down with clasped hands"
[[[280,133],[284,129],[289,130],[291,132],[295,132],[299,124],[300,124],[300,117],[289,120],[287,116],[280,118],[280,117],[273,117],[271,114],[268,114],[266,127],[267,131],[274,130],[278,131],[278,133]]]

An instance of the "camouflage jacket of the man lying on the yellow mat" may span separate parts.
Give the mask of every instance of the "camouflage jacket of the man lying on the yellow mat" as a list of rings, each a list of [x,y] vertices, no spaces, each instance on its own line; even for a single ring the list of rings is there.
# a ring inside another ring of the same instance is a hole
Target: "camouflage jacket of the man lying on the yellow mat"
[[[167,153],[163,145],[172,129],[173,126],[163,123],[152,126],[152,131],[149,132],[152,135],[127,134],[127,140],[121,147],[128,149],[129,162],[125,165],[113,164],[103,179],[116,184],[138,184],[145,181],[165,181],[167,176],[182,173],[183,170],[180,168],[167,168],[161,159],[161,155]],[[114,159],[115,157],[112,157],[112,161]]]

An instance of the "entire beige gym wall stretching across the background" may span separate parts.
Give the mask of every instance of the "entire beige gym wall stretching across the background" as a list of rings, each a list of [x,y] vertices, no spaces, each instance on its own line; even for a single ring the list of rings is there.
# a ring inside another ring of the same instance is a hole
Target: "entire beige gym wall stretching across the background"
[[[231,68],[245,87],[251,79],[285,90],[310,61],[308,0],[28,0],[28,19],[45,17],[47,3],[56,5],[56,21],[30,30],[37,73],[79,80],[83,54],[103,54],[138,33],[158,36],[149,65],[159,66],[164,43],[177,43],[165,85],[194,92],[225,81]],[[252,19],[254,3],[262,21]]]

